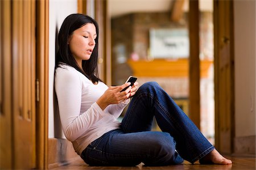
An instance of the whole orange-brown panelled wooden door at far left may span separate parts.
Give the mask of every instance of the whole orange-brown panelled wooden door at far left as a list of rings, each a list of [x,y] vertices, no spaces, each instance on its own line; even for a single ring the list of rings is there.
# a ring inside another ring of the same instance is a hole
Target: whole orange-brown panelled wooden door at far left
[[[36,168],[35,1],[1,1],[2,24],[1,84],[6,82],[1,87],[5,108],[1,111],[1,169],[32,169]],[[2,44],[2,36],[7,43]]]

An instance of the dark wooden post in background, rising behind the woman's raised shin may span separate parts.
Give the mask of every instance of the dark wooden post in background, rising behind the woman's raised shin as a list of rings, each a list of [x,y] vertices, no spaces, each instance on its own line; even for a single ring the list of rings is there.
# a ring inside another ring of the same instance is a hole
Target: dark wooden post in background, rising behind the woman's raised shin
[[[189,117],[200,129],[199,1],[189,1]]]

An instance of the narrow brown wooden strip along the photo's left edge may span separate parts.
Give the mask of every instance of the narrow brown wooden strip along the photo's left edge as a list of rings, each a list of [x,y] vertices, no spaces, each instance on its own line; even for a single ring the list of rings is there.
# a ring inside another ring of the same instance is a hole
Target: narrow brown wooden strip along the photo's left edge
[[[13,99],[11,76],[11,1],[0,1],[1,47],[1,113],[0,113],[0,167],[13,169]],[[4,43],[3,43],[4,42]],[[3,100],[5,99],[5,100]]]

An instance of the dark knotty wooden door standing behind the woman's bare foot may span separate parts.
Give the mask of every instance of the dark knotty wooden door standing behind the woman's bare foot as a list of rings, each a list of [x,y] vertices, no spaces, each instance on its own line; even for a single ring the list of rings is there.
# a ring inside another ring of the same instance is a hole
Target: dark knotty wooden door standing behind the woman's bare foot
[[[214,67],[216,147],[233,152],[234,38],[233,1],[214,1]]]

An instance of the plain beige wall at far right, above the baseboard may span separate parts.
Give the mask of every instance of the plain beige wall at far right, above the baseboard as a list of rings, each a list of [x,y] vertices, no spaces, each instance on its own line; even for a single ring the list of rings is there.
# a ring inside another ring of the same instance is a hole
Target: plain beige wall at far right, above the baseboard
[[[236,137],[255,135],[255,1],[234,1]]]

